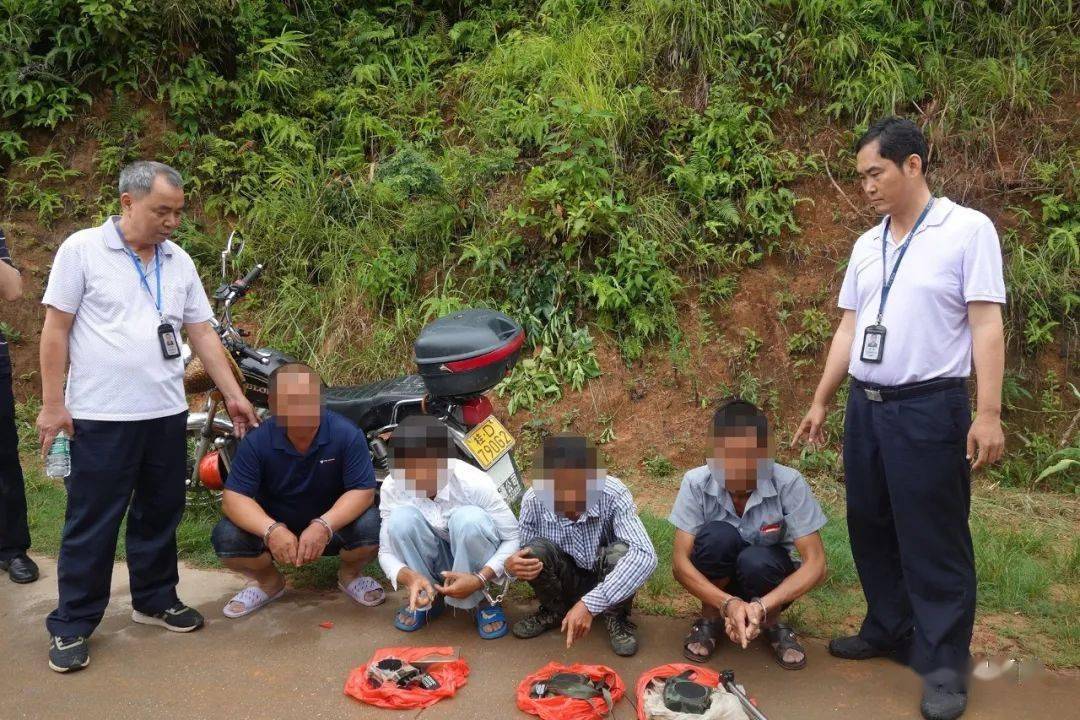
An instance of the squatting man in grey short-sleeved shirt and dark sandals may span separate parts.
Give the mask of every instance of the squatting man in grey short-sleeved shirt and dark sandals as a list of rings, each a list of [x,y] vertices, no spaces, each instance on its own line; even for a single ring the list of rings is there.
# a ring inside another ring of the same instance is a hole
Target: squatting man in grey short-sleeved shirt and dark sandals
[[[781,667],[801,669],[806,651],[780,613],[825,579],[825,514],[798,471],[773,462],[754,405],[723,405],[710,439],[708,463],[683,478],[670,518],[675,580],[701,600],[683,653],[708,661],[723,621],[732,642],[745,649],[764,633]]]

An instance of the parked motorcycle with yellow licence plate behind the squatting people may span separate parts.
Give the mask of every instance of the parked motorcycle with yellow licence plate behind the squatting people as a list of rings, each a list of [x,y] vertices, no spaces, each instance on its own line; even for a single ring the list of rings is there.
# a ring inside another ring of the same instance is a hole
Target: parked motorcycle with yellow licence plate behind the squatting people
[[[228,282],[230,266],[243,245],[235,231],[226,241],[211,325],[232,359],[244,394],[266,418],[271,373],[297,361],[273,348],[252,348],[245,340],[248,332],[233,323],[233,305],[264,270],[256,264],[242,279]],[[364,432],[380,480],[390,472],[388,444],[394,429],[410,415],[427,413],[449,430],[458,459],[486,471],[503,499],[516,506],[525,487],[514,459],[515,441],[494,415],[487,393],[517,364],[524,341],[521,326],[502,313],[484,309],[453,313],[420,331],[414,343],[417,373],[366,385],[326,386],[323,402]],[[240,440],[233,435],[221,394],[187,343],[183,355],[189,402],[202,404],[201,410],[188,415],[188,505],[216,504]]]

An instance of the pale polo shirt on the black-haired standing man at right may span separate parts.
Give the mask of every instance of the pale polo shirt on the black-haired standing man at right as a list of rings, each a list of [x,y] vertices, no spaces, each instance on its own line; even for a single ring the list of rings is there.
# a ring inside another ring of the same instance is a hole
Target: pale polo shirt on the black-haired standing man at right
[[[971,375],[968,303],[1005,301],[1001,245],[990,219],[939,198],[907,241],[885,307],[881,363],[860,359],[863,334],[877,321],[881,298],[881,233],[885,219],[855,241],[840,288],[839,307],[855,311],[855,337],[848,371],[858,380],[900,385]],[[892,230],[890,229],[890,235]],[[888,272],[900,246],[886,243]]]

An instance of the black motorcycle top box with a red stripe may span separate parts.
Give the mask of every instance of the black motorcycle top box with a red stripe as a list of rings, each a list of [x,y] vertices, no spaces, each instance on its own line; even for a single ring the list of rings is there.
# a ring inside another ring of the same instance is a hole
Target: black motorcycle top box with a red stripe
[[[525,331],[501,312],[463,310],[420,330],[413,359],[432,395],[478,395],[507,377],[524,342]]]

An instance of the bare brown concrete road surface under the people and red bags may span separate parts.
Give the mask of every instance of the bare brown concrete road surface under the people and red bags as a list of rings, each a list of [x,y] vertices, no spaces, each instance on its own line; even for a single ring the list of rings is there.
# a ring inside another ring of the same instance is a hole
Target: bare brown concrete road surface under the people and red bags
[[[567,651],[562,636],[530,641],[507,637],[482,641],[464,613],[447,612],[430,628],[404,635],[391,627],[397,599],[379,608],[356,606],[338,592],[291,590],[281,600],[243,620],[230,621],[221,607],[240,587],[237,576],[183,568],[180,596],[207,619],[190,635],[131,622],[127,572],[113,574],[113,600],[91,641],[89,668],[57,675],[46,665],[43,621],[55,604],[56,566],[38,557],[42,578],[15,585],[0,576],[0,719],[54,720],[315,720],[338,718],[438,718],[501,720],[526,718],[514,690],[527,674],[549,661],[610,665],[633,687],[644,670],[681,660],[686,622],[639,617],[642,651],[616,657],[603,626]],[[516,617],[523,609],[513,609]],[[320,623],[333,621],[333,629]],[[379,647],[459,646],[471,667],[469,684],[456,697],[422,712],[370,708],[342,693],[349,671]],[[824,644],[808,641],[809,664],[789,673],[778,667],[764,646],[746,651],[725,644],[712,667],[730,667],[757,696],[770,720],[919,718],[919,683],[889,661],[845,663]],[[617,720],[634,710],[623,701]],[[1080,719],[1080,679],[1041,676],[1017,685],[975,682],[968,720]]]

